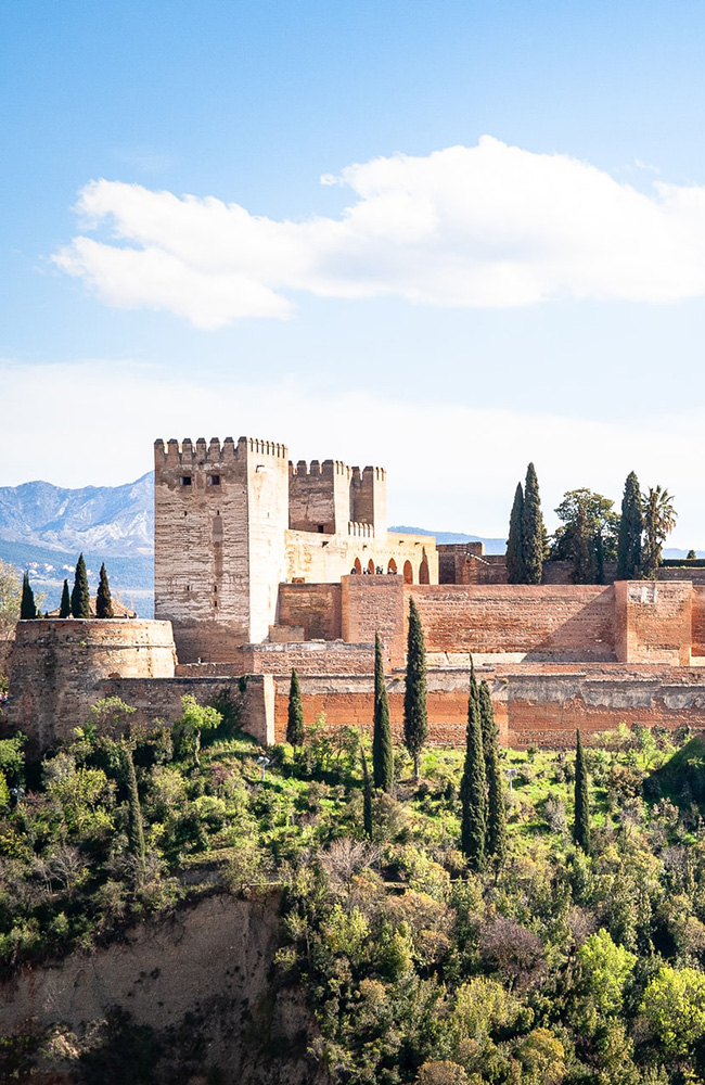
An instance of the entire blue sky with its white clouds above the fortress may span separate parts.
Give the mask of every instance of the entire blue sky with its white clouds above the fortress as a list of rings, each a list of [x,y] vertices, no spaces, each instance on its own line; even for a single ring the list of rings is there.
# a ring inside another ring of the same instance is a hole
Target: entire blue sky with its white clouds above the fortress
[[[547,513],[634,468],[705,547],[702,3],[24,0],[0,35],[0,485],[253,433],[477,534],[529,459]]]

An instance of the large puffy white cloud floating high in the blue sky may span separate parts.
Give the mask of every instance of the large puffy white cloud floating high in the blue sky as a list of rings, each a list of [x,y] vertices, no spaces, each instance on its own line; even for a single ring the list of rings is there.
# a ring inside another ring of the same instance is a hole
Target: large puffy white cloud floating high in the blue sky
[[[703,186],[654,181],[646,195],[577,158],[488,136],[321,180],[351,193],[339,218],[275,221],[210,196],[92,181],[77,204],[86,233],[52,259],[108,305],[203,329],[286,318],[296,291],[454,307],[705,295]]]

